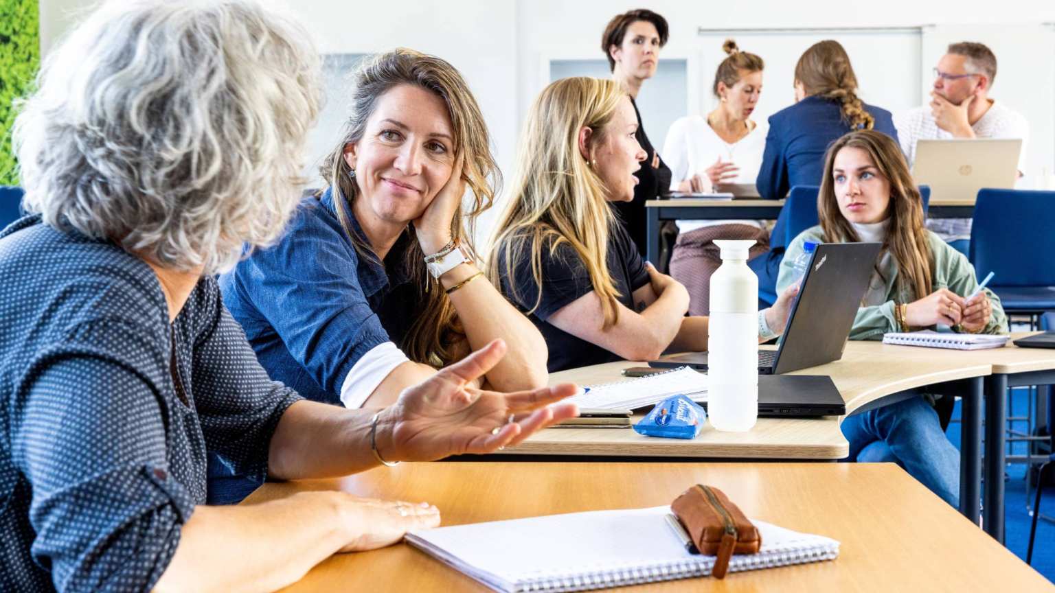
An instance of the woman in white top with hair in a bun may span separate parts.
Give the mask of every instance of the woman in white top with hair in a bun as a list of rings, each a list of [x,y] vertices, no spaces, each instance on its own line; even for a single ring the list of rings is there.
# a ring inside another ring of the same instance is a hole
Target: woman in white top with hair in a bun
[[[726,40],[728,55],[714,74],[718,106],[707,118],[675,121],[667,133],[664,160],[673,175],[671,189],[685,192],[722,191],[725,184],[753,184],[762,166],[766,125],[750,118],[762,93],[762,58],[741,52]],[[716,238],[753,238],[750,256],[769,249],[769,233],[761,221],[678,221],[677,243],[670,272],[689,289],[689,313],[710,311],[709,285],[722,264]]]

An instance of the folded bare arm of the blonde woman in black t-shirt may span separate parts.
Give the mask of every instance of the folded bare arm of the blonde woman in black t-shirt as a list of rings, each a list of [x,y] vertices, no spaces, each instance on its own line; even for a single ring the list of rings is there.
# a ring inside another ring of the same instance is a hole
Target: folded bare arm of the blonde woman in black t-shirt
[[[647,266],[650,284],[633,292],[632,311],[616,303],[619,319],[602,329],[605,315],[593,290],[550,315],[557,328],[615,352],[627,360],[650,360],[671,345],[689,309],[689,292],[672,278]]]

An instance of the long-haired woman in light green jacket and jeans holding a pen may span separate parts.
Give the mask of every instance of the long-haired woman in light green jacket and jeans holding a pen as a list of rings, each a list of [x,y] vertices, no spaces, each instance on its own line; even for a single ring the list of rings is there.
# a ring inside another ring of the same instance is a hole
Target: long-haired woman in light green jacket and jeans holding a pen
[[[1000,299],[978,288],[974,268],[923,227],[923,206],[908,164],[894,138],[871,130],[846,134],[825,157],[818,197],[821,224],[788,246],[778,288],[794,282],[791,263],[805,242],[883,244],[876,271],[850,330],[851,340],[881,340],[887,331],[951,326],[954,331],[1008,330]],[[846,418],[849,459],[896,461],[954,506],[959,453],[938,415],[921,396]]]

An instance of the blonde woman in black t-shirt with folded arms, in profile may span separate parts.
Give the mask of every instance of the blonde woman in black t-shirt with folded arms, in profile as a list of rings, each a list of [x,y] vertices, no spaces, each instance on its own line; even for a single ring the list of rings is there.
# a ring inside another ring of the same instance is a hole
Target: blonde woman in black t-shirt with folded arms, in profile
[[[558,80],[529,114],[487,273],[545,337],[551,371],[707,349],[707,318],[685,315],[685,287],[641,261],[608,206],[634,196],[636,132],[610,80]],[[793,294],[760,312],[762,337],[783,330]]]

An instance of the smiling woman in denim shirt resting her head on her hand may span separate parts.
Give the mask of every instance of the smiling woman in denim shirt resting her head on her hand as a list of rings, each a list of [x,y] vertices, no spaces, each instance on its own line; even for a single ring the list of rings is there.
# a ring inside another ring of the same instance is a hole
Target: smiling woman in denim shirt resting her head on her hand
[[[542,337],[476,266],[472,227],[498,170],[461,75],[411,50],[381,54],[359,71],[351,108],[328,187],[276,246],[220,279],[264,368],[316,401],[384,405],[502,338],[487,383],[544,385]]]

